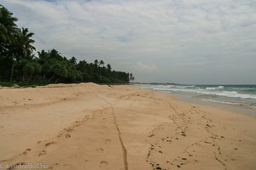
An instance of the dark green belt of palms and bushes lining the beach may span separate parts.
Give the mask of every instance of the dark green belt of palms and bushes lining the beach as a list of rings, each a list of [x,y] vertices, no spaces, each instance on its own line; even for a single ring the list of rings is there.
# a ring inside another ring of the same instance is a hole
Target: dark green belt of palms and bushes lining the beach
[[[75,57],[67,59],[55,49],[42,50],[35,56],[33,33],[19,28],[17,19],[0,4],[0,85],[22,86],[48,83],[128,83],[131,73],[113,71],[102,60],[87,63]]]

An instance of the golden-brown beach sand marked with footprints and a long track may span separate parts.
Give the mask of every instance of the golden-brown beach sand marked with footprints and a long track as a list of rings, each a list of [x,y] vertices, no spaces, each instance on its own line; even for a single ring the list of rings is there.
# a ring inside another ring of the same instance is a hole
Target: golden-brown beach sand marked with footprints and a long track
[[[256,169],[255,127],[133,86],[0,89],[0,169]]]

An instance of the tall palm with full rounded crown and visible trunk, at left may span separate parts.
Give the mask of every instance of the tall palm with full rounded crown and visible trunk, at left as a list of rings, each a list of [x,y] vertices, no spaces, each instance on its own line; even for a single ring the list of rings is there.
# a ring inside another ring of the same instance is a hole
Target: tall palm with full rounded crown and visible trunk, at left
[[[21,28],[15,34],[15,41],[10,44],[9,55],[11,55],[13,59],[10,82],[13,81],[15,63],[20,62],[20,59],[28,59],[36,49],[32,46],[32,43],[35,42],[32,39],[33,35],[34,34],[29,32],[27,28]]]

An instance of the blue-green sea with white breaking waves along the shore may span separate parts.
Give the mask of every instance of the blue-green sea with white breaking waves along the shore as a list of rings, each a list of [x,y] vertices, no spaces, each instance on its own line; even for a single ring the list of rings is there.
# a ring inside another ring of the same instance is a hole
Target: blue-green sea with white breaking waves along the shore
[[[238,106],[251,110],[256,116],[256,85],[144,84],[141,88],[212,104]]]

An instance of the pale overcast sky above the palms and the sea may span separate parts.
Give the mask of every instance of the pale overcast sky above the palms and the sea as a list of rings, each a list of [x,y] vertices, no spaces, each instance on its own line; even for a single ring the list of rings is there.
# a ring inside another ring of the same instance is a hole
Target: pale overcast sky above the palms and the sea
[[[256,84],[255,0],[0,0],[37,50],[102,59],[135,82]]]

